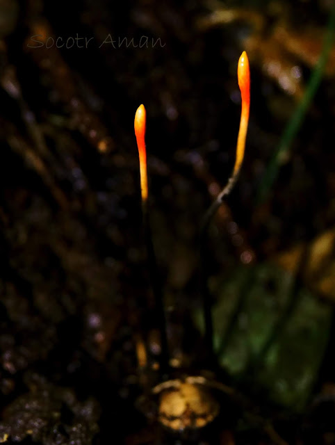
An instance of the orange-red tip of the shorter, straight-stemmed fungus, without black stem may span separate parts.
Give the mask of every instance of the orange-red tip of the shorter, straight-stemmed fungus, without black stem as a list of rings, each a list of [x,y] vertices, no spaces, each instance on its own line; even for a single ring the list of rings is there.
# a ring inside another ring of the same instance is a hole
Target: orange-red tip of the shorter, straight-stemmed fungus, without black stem
[[[135,114],[134,128],[136,142],[138,146],[138,156],[140,159],[140,184],[142,202],[147,201],[148,197],[148,178],[147,178],[147,152],[145,149],[145,125],[147,120],[147,112],[142,104],[138,107]]]

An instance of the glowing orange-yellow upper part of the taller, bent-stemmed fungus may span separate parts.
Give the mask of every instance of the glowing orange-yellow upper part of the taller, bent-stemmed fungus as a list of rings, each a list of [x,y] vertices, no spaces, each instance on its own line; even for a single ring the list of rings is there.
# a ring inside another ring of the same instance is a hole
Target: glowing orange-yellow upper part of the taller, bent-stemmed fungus
[[[237,175],[240,165],[243,162],[245,139],[247,138],[247,124],[249,122],[250,110],[250,69],[247,53],[243,51],[238,60],[237,67],[238,86],[240,87],[240,95],[242,97],[242,110],[240,113],[240,129],[238,131],[236,146],[236,161],[234,165],[233,175]]]

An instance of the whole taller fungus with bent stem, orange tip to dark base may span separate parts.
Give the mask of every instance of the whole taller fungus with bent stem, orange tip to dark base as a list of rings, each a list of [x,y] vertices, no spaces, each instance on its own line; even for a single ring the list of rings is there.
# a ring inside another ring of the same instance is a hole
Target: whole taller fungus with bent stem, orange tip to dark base
[[[209,210],[206,211],[202,221],[202,228],[200,232],[200,254],[202,259],[202,291],[203,291],[203,305],[204,305],[204,319],[205,319],[205,341],[209,350],[209,354],[213,355],[213,320],[211,313],[211,296],[208,288],[208,261],[206,261],[206,234],[207,229],[211,223],[213,216],[218,211],[222,204],[224,197],[229,195],[232,188],[236,184],[240,168],[243,163],[245,152],[245,139],[247,138],[247,125],[249,122],[250,111],[250,69],[247,53],[243,51],[238,60],[237,68],[238,86],[240,87],[240,94],[242,98],[242,109],[240,113],[240,128],[238,130],[238,138],[236,144],[236,160],[231,177],[222,191],[218,194],[216,200],[211,204]]]

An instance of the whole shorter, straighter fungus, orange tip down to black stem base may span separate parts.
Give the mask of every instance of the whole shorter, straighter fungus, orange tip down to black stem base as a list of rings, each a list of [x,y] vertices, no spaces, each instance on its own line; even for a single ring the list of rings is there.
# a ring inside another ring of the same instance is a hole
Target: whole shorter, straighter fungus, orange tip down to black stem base
[[[163,304],[163,294],[161,282],[158,277],[156,254],[152,243],[152,232],[149,220],[148,179],[147,179],[147,151],[145,148],[145,126],[146,126],[145,106],[140,105],[135,114],[134,129],[136,142],[138,145],[138,156],[140,159],[140,186],[142,198],[142,218],[145,231],[145,245],[147,247],[147,258],[149,264],[149,274],[152,281],[152,291],[154,293],[155,310],[157,312],[158,327],[161,332],[161,369],[166,371],[168,367],[168,339],[166,330],[166,319]]]

